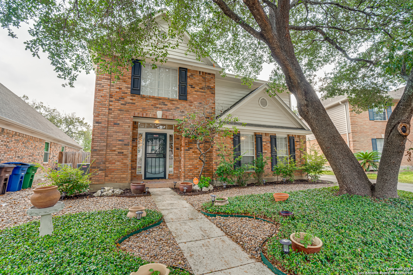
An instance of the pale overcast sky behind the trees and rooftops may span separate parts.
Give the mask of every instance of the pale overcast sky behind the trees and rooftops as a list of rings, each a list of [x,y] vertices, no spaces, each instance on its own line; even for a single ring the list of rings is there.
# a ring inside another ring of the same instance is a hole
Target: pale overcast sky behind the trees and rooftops
[[[23,43],[31,38],[27,30],[25,24],[15,29],[16,39],[7,36],[7,30],[0,28],[0,82],[18,96],[25,94],[59,111],[76,113],[92,124],[95,73],[79,74],[74,88],[62,87],[64,80],[56,77],[47,55],[40,53],[38,59],[25,50]],[[272,69],[273,64],[264,64],[258,78],[268,80]],[[323,70],[318,75],[323,75]],[[292,105],[297,105],[294,96]]]

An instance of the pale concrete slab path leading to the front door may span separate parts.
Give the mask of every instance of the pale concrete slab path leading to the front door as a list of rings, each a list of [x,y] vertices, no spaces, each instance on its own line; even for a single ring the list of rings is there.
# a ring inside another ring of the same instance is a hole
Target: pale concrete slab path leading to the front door
[[[170,188],[150,188],[195,275],[273,275]]]

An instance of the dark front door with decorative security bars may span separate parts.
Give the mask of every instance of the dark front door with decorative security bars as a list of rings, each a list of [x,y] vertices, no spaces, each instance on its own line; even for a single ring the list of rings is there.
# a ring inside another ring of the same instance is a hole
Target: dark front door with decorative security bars
[[[166,134],[146,133],[145,179],[166,179]]]

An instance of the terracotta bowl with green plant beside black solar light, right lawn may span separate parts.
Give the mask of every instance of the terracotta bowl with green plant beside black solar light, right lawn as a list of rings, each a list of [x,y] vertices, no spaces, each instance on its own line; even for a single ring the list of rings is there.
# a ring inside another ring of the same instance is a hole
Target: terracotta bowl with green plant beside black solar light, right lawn
[[[306,254],[313,254],[320,251],[323,246],[323,242],[312,233],[299,232],[305,229],[306,226],[302,223],[298,223],[297,232],[290,235],[291,247],[294,251],[303,251]]]

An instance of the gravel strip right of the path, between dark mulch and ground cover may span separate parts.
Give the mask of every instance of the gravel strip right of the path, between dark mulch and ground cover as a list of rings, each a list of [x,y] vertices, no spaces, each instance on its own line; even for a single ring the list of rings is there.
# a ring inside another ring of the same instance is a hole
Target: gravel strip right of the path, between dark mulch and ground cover
[[[211,200],[211,195],[217,196],[225,196],[225,197],[234,197],[239,195],[250,195],[250,194],[263,194],[263,193],[285,193],[288,191],[294,190],[305,190],[305,189],[312,189],[312,188],[322,188],[322,187],[330,187],[330,186],[337,186],[337,183],[328,183],[328,184],[283,184],[277,186],[252,186],[250,188],[243,188],[243,189],[230,189],[221,192],[214,192],[211,194],[199,195],[199,196],[183,196],[183,199],[189,202],[195,209],[198,211],[201,210],[201,205],[203,202]]]

